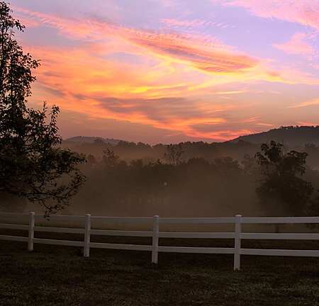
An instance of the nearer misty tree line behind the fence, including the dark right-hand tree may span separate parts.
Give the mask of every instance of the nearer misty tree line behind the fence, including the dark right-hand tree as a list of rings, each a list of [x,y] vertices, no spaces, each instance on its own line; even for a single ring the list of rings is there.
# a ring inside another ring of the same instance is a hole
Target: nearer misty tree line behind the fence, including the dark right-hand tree
[[[319,173],[306,158],[277,142],[241,162],[185,159],[180,144],[167,145],[156,162],[127,162],[106,149],[101,159],[86,155],[86,184],[72,207],[99,215],[316,215]]]

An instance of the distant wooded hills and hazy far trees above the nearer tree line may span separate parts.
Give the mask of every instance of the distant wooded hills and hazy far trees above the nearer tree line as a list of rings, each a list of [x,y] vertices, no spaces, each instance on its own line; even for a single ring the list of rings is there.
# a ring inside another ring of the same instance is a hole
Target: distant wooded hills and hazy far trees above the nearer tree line
[[[308,153],[309,166],[319,166],[319,126],[317,127],[281,127],[268,132],[246,135],[228,142],[182,142],[185,161],[197,157],[213,161],[217,157],[232,157],[239,162],[245,155],[254,157],[260,145],[270,141],[281,142],[287,149],[296,149]],[[311,145],[308,145],[311,144]],[[62,142],[62,147],[88,156],[94,155],[98,160],[103,158],[107,149],[111,149],[120,159],[130,163],[133,159],[142,159],[147,164],[162,160],[167,152],[167,145],[150,146],[142,142],[104,139],[101,137],[72,137]]]

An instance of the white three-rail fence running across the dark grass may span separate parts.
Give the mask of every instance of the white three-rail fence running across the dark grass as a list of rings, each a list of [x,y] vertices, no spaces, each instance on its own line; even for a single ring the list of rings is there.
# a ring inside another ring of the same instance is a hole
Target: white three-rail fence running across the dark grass
[[[203,254],[234,254],[234,269],[240,269],[240,255],[270,255],[270,256],[315,256],[319,257],[319,250],[293,250],[293,249],[242,249],[242,239],[296,239],[296,240],[319,240],[319,234],[313,233],[245,233],[242,232],[242,224],[319,224],[319,217],[93,217],[85,216],[57,216],[52,215],[50,220],[57,221],[82,221],[84,228],[68,227],[46,227],[35,226],[35,221],[43,220],[43,215],[0,213],[1,220],[28,220],[28,225],[0,224],[4,229],[23,229],[28,231],[28,237],[18,237],[0,235],[2,240],[18,242],[28,242],[28,250],[33,250],[33,244],[56,244],[64,246],[82,246],[84,256],[89,257],[90,248],[101,249],[124,249],[151,251],[152,263],[157,263],[158,252],[177,252],[177,253],[203,253]],[[106,230],[92,229],[91,222],[99,222],[104,225],[110,222],[132,222],[150,223],[152,231],[127,231],[127,230]],[[230,223],[235,225],[235,232],[159,232],[161,224],[216,224]],[[69,241],[56,239],[35,238],[35,232],[58,232],[84,234],[84,241]],[[128,236],[128,237],[152,237],[152,245],[136,244],[109,244],[91,242],[91,235],[106,236]],[[191,246],[160,246],[159,238],[208,238],[208,239],[234,239],[234,247],[191,247]]]

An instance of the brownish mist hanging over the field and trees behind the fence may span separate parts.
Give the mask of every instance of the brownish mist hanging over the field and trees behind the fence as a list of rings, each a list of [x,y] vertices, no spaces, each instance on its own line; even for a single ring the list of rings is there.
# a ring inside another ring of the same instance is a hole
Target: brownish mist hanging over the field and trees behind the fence
[[[301,142],[302,143],[302,142]],[[241,214],[276,216],[280,210],[262,207],[256,188],[263,177],[254,155],[260,144],[245,142],[183,142],[167,145],[119,141],[65,141],[82,153],[79,169],[86,183],[62,214],[151,217],[226,217]],[[319,148],[287,146],[307,152],[303,179],[319,189]],[[169,156],[171,154],[171,156]],[[175,157],[174,154],[177,154]],[[38,205],[26,211],[41,213]]]

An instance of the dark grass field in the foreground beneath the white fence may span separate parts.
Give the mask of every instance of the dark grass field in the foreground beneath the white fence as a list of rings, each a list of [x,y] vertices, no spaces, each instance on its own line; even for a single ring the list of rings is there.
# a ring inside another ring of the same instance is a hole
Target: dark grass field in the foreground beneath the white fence
[[[181,243],[204,242],[174,239]],[[318,244],[281,242],[287,248],[319,249]],[[0,305],[319,305],[319,258],[242,256],[242,269],[233,271],[232,255],[160,253],[155,265],[150,252],[91,249],[84,258],[71,246],[26,248],[0,241]]]

